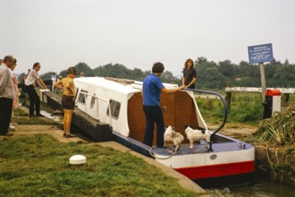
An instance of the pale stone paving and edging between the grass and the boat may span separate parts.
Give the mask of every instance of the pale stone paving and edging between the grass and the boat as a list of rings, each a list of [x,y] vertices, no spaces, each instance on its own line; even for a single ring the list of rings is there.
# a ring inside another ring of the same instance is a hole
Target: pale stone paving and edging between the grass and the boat
[[[24,111],[25,113],[28,113],[28,108],[20,107],[20,109],[22,111]],[[35,118],[37,118],[37,117],[35,117]],[[53,122],[54,121],[46,116],[38,117],[38,118],[40,118],[46,122]],[[28,119],[29,119],[29,116],[28,116]],[[13,136],[10,136],[10,137],[0,136],[0,141],[4,137],[5,138],[22,138],[24,136],[46,133],[46,134],[52,135],[54,138],[56,138],[60,142],[67,143],[67,142],[73,141],[73,142],[94,143],[94,142],[86,141],[83,138],[79,138],[78,136],[73,137],[73,138],[65,138],[65,137],[63,137],[64,131],[62,131],[60,128],[61,128],[60,125],[53,125],[53,124],[49,124],[49,125],[46,125],[46,124],[17,124],[14,126],[13,130],[10,131],[10,133],[13,133]],[[157,168],[160,168],[166,176],[174,177],[177,180],[178,184],[180,184],[183,188],[196,193],[198,196],[203,196],[203,197],[210,196],[209,194],[206,194],[206,191],[203,190],[198,184],[195,184],[191,179],[174,171],[174,169],[172,169],[172,168],[165,167],[164,165],[156,162],[156,160],[153,158],[147,158],[143,155],[140,155],[138,152],[130,150],[115,141],[95,142],[95,143],[98,143],[103,147],[111,147],[114,150],[120,150],[122,152],[129,152],[130,154],[132,154],[136,157],[142,158],[143,160],[148,162],[148,164],[153,165]]]

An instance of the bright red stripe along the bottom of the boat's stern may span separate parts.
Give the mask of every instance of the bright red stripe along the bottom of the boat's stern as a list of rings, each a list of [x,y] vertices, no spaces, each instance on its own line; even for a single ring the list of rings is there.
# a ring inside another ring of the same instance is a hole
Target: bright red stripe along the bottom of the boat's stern
[[[255,160],[203,167],[174,168],[174,170],[191,179],[246,174],[254,172],[254,169]]]

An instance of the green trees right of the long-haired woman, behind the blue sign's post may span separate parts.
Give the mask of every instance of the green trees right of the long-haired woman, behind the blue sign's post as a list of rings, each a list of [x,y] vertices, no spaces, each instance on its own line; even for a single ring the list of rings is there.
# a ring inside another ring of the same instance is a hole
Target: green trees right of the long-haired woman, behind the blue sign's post
[[[218,64],[208,61],[206,57],[198,57],[197,68],[198,89],[224,89],[225,87],[261,87],[261,76],[258,64],[241,61],[233,64],[230,60]],[[295,87],[295,64],[288,60],[264,64],[266,86],[273,88]]]

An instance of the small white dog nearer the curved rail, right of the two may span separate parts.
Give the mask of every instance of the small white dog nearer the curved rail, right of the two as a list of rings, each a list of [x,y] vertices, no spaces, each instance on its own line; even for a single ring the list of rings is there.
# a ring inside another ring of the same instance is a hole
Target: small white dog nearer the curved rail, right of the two
[[[193,141],[205,140],[207,142],[207,144],[210,141],[210,133],[208,130],[201,131],[198,129],[192,129],[192,127],[190,125],[186,125],[184,127],[184,131],[186,133],[187,140],[190,141],[190,149],[191,150],[193,149]]]

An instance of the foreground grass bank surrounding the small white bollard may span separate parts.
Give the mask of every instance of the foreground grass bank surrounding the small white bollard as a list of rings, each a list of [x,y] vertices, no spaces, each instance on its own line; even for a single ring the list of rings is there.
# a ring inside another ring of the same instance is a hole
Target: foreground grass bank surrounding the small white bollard
[[[85,155],[84,166],[68,158]],[[0,196],[196,196],[130,153],[39,134],[0,141]]]

